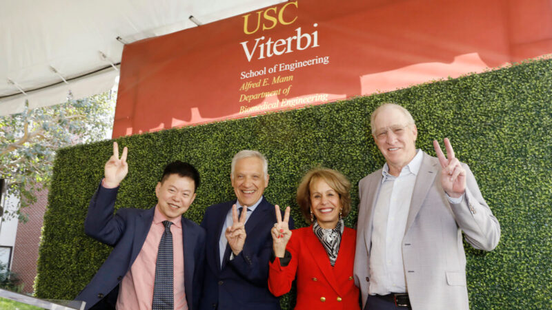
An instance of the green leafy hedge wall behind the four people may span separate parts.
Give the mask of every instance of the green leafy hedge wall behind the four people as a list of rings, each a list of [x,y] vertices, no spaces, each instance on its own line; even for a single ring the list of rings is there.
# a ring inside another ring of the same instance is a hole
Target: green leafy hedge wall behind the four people
[[[240,149],[258,149],[269,161],[266,197],[291,205],[305,225],[295,189],[315,165],[339,169],[353,184],[379,169],[384,158],[369,133],[368,117],[383,102],[410,110],[418,147],[433,154],[433,138],[449,136],[468,163],[502,227],[495,251],[466,245],[473,309],[545,309],[552,296],[552,61],[417,85],[404,90],[266,114],[254,118],[118,138],[129,148],[130,171],[116,208],[148,208],[166,163],[193,163],[203,184],[186,217],[201,221],[204,209],[233,198],[230,160]],[[72,299],[88,283],[110,247],[85,236],[88,200],[103,176],[112,141],[61,149],[44,217],[36,294]],[[358,191],[352,192],[356,221]],[[293,307],[293,297],[282,301]]]

